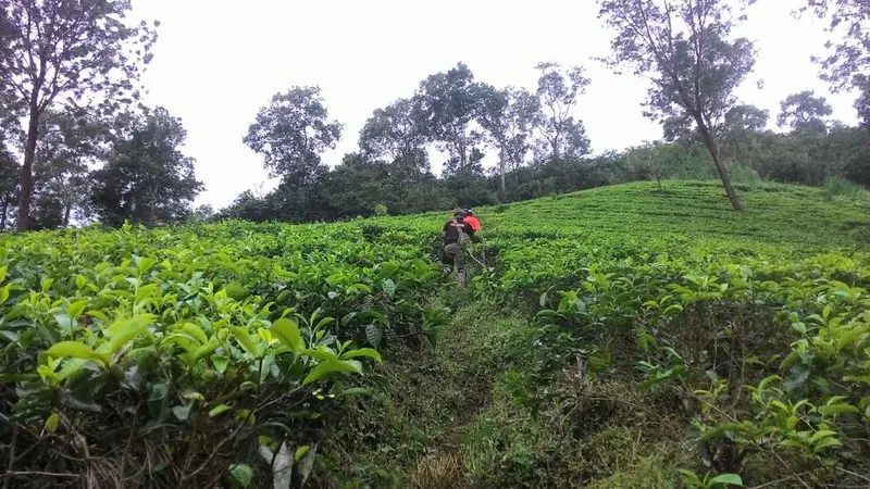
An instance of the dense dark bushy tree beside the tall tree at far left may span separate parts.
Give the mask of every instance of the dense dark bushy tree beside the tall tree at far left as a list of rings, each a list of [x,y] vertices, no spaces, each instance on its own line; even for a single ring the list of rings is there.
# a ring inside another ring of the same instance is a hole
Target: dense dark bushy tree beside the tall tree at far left
[[[187,138],[182,121],[165,109],[124,114],[105,166],[94,172],[91,203],[100,221],[156,226],[184,220],[202,190],[194,159],[179,147]]]

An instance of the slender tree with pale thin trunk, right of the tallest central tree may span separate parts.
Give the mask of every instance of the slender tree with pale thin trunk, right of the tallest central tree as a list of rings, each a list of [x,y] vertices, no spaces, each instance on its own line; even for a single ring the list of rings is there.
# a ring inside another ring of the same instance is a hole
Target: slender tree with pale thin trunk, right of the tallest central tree
[[[499,90],[492,85],[477,86],[478,124],[498,149],[501,197],[507,195],[505,176],[520,167],[532,149],[532,126],[540,113],[537,97],[524,89]]]

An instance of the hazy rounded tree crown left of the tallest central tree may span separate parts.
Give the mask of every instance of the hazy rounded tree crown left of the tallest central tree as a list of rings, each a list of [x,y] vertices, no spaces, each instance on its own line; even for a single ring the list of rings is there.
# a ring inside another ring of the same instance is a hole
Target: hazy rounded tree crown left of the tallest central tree
[[[411,100],[399,99],[375,110],[360,130],[362,154],[368,159],[388,159],[401,180],[413,179],[409,177],[430,167],[428,138],[418,109]]]

